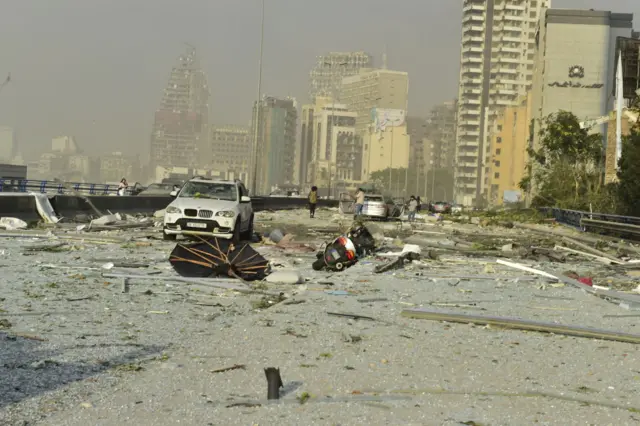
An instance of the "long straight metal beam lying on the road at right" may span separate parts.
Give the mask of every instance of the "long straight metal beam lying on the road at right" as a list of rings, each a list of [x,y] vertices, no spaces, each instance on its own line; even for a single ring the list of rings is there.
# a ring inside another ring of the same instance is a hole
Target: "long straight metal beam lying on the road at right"
[[[452,312],[431,311],[428,309],[405,309],[401,315],[407,318],[431,321],[448,321],[463,324],[493,325],[516,330],[537,331],[541,333],[562,334],[565,336],[590,339],[612,340],[625,343],[640,343],[640,335],[600,330],[597,328],[562,325],[549,322],[530,321],[519,318],[490,317],[483,315],[456,314]]]

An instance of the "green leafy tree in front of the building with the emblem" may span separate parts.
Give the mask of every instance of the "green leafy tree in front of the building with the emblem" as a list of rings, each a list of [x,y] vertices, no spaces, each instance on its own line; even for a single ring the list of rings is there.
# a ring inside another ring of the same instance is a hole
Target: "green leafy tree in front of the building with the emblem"
[[[559,111],[542,120],[539,136],[539,149],[529,149],[530,164],[520,182],[525,191],[534,191],[532,204],[608,211],[602,135],[581,129],[575,115]]]

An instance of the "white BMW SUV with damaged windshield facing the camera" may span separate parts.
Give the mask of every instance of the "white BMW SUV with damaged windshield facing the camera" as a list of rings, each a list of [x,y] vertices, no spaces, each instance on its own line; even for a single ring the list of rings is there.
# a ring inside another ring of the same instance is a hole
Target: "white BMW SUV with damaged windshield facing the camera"
[[[163,237],[202,235],[239,241],[253,234],[253,208],[240,181],[194,178],[179,191],[164,214]]]

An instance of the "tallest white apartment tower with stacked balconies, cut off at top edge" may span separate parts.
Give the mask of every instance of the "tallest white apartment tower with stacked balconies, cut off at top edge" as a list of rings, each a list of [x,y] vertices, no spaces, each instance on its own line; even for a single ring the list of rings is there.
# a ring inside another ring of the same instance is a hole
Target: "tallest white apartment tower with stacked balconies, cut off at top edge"
[[[464,0],[455,198],[478,204],[487,184],[490,129],[532,87],[538,20],[550,0]]]

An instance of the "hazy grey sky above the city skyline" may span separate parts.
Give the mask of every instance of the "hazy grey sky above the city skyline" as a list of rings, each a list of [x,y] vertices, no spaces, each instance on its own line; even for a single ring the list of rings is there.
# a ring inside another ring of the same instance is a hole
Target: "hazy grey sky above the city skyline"
[[[307,101],[316,55],[387,46],[409,72],[411,115],[457,94],[461,0],[266,0],[263,93]],[[554,7],[634,12],[638,0],[552,0]],[[639,22],[640,24],[640,22]],[[636,28],[640,25],[637,24]],[[248,124],[256,96],[260,0],[2,0],[0,125],[25,157],[74,135],[89,154],[148,152],[171,67],[198,49],[212,120]]]

